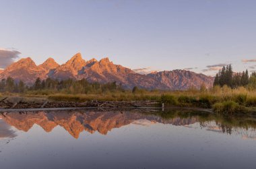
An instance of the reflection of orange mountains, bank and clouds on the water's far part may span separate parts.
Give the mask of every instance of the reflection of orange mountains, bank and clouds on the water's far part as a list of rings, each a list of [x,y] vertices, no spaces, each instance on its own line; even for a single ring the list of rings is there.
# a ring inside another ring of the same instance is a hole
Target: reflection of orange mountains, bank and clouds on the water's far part
[[[191,110],[168,110],[166,112],[138,112],[97,110],[69,110],[49,112],[8,112],[0,114],[0,138],[15,137],[9,125],[21,131],[29,131],[33,125],[39,125],[46,132],[55,127],[63,127],[74,138],[78,138],[82,131],[94,133],[98,131],[106,135],[114,128],[129,124],[149,126],[154,123],[191,127],[199,123],[201,129],[241,135],[243,139],[256,139],[256,118],[245,115],[225,116]],[[5,121],[5,123],[3,122]]]

